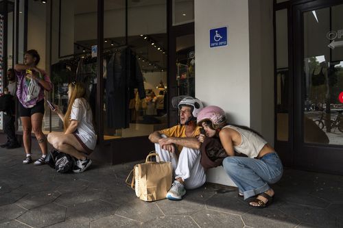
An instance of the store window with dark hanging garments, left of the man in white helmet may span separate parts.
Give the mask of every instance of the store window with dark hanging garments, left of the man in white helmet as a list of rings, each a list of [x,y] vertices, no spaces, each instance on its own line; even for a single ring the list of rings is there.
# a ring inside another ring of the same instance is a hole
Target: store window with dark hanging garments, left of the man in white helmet
[[[107,60],[104,86],[105,140],[147,136],[167,127],[164,105],[167,96],[166,1],[128,1],[127,38],[123,29],[123,5],[125,1],[117,1],[116,4],[105,1],[104,5],[104,42],[110,40],[114,43],[113,47],[108,47],[110,56],[104,55]],[[118,23],[113,24],[111,14],[116,15],[115,21]],[[121,66],[115,61],[115,56],[121,58]],[[111,57],[114,62],[110,60]],[[118,68],[126,71],[123,78],[126,81],[120,84],[123,87],[111,79],[118,73]],[[117,89],[113,89],[113,86]]]

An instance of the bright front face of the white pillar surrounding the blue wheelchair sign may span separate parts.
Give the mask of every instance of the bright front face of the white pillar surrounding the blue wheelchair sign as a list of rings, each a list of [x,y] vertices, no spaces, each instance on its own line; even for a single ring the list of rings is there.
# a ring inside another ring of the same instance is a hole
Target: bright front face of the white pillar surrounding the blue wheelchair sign
[[[231,123],[250,125],[248,0],[195,1],[196,97]],[[209,47],[209,29],[228,26],[228,46]],[[220,91],[220,92],[219,92]]]

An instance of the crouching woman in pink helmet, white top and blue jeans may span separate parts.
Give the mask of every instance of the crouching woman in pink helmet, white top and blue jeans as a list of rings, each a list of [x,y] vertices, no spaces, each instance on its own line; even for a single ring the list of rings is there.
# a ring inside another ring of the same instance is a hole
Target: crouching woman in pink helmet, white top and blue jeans
[[[224,169],[239,189],[239,195],[248,199],[254,207],[266,207],[272,203],[274,190],[270,183],[281,179],[283,166],[279,155],[256,131],[239,125],[226,123],[224,110],[217,106],[204,107],[198,114],[198,125],[205,134],[199,136],[219,137],[228,157],[223,161]],[[247,157],[235,156],[235,151]]]

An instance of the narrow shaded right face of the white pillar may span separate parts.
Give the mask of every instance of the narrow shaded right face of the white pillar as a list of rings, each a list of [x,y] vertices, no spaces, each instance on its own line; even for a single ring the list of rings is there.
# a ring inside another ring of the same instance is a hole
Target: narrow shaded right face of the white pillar
[[[250,127],[274,144],[274,36],[271,0],[249,0]]]

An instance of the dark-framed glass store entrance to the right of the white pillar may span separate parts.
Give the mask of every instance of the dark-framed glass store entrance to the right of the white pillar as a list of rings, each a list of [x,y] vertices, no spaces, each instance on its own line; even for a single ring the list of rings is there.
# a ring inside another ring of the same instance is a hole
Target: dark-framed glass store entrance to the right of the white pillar
[[[343,175],[343,2],[287,10],[289,66],[279,67],[281,49],[276,53],[276,148],[288,166]]]

